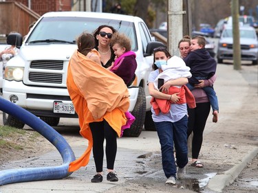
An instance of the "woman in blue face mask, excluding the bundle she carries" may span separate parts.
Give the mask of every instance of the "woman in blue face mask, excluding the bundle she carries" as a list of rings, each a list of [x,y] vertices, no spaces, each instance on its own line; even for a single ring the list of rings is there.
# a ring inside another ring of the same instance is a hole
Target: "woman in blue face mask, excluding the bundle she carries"
[[[167,64],[171,54],[166,47],[153,49],[154,64],[148,79],[150,95],[155,99],[169,100],[170,108],[167,113],[156,113],[151,108],[153,122],[160,139],[162,152],[162,168],[167,178],[166,184],[175,185],[176,174],[178,178],[183,178],[185,166],[188,163],[187,150],[187,106],[186,102],[180,103],[180,93],[169,94],[171,86],[182,87],[187,84],[187,78],[168,80],[158,89],[155,88],[155,81],[163,72],[162,66]],[[180,58],[180,60],[182,60]],[[182,61],[183,62],[183,61]],[[183,62],[184,63],[184,62]],[[159,90],[160,89],[160,90]],[[173,88],[172,88],[173,89]],[[184,98],[184,95],[182,95]],[[180,103],[180,104],[178,104]],[[174,145],[177,150],[178,171],[175,166],[173,155]]]

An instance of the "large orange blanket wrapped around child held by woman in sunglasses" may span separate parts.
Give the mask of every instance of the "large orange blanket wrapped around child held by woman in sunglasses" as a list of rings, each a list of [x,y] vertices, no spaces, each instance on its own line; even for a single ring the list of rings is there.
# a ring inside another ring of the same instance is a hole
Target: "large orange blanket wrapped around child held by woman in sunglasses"
[[[79,117],[80,135],[89,141],[83,155],[69,164],[69,172],[73,172],[89,163],[93,145],[89,123],[105,119],[120,137],[127,122],[129,91],[122,78],[77,50],[69,61],[67,90]]]

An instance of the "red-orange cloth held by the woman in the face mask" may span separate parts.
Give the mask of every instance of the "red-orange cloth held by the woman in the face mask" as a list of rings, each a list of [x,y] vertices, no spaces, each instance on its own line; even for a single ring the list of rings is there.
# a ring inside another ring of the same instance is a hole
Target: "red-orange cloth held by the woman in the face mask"
[[[180,97],[180,100],[177,102],[177,104],[184,104],[187,103],[189,105],[190,109],[193,109],[196,107],[195,104],[195,98],[188,87],[185,85],[181,88],[178,87],[170,87],[169,88],[169,94],[172,95],[174,93],[179,93],[178,96]],[[155,111],[155,114],[158,115],[160,111],[164,114],[169,113],[169,110],[171,108],[171,100],[164,100],[164,99],[158,99],[158,98],[151,98],[151,105],[153,106],[153,110]]]

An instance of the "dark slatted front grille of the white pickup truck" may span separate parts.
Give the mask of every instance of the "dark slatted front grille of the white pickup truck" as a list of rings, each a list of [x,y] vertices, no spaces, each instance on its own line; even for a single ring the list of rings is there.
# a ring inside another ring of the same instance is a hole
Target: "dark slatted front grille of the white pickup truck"
[[[62,84],[63,60],[34,60],[30,63],[30,69],[34,69],[29,73],[31,82]],[[36,72],[36,69],[40,69],[39,72]],[[43,69],[47,71],[43,72]],[[49,70],[52,70],[51,73]]]

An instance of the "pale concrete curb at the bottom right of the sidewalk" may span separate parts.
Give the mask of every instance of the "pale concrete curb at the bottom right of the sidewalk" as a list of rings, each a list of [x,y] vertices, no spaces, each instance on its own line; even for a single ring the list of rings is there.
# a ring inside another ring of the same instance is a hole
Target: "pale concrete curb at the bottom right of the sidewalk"
[[[251,150],[239,164],[235,165],[233,168],[230,168],[230,170],[224,172],[224,174],[215,175],[215,177],[208,181],[207,188],[215,192],[222,192],[226,185],[230,185],[233,183],[233,181],[235,181],[241,171],[244,170],[247,163],[252,161],[257,154],[258,148],[256,147]]]

